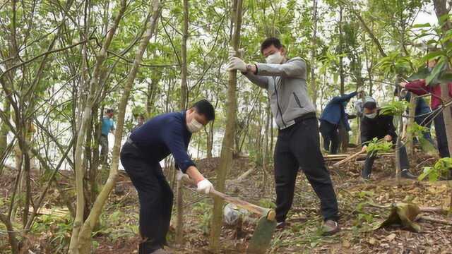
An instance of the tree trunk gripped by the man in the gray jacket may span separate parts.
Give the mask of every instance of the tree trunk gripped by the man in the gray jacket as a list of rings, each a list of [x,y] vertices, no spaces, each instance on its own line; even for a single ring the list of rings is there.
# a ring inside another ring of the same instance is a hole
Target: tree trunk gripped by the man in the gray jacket
[[[237,52],[240,42],[240,30],[242,28],[242,0],[234,0],[232,6],[232,18],[234,32],[232,34],[232,47]],[[229,72],[227,84],[227,107],[225,136],[222,141],[220,164],[218,165],[218,177],[215,188],[218,191],[225,190],[227,171],[232,167],[234,151],[234,132],[236,123],[237,98],[235,90],[237,87],[237,71]],[[215,198],[213,202],[212,226],[210,229],[210,250],[214,253],[220,252],[220,234],[222,227],[222,200]]]

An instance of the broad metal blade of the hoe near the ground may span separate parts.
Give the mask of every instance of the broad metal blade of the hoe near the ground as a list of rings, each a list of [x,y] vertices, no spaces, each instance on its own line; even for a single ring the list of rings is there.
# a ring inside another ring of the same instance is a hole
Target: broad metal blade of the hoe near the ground
[[[254,234],[249,242],[246,253],[266,253],[276,228],[275,220],[270,221],[267,217],[258,220]]]

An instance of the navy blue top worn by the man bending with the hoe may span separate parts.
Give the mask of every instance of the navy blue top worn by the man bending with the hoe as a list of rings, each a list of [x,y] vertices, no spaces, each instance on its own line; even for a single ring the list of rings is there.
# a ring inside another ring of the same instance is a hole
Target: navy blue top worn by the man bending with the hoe
[[[185,111],[155,116],[136,128],[130,138],[151,163],[172,154],[182,172],[196,166],[187,153],[191,133],[186,128]]]

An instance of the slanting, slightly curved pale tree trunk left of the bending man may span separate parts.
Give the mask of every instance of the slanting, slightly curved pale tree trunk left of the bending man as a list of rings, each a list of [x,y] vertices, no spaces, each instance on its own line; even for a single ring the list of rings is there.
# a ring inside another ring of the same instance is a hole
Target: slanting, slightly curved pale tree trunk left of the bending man
[[[136,78],[136,73],[138,73],[138,68],[140,67],[141,61],[143,59],[143,54],[148,47],[148,43],[150,38],[153,36],[155,30],[155,24],[157,23],[157,19],[160,16],[160,1],[153,0],[153,4],[149,6],[149,12],[152,15],[149,15],[146,20],[146,31],[143,35],[143,39],[138,46],[135,59],[133,60],[133,65],[131,70],[129,71],[129,75],[127,76],[126,83],[124,85],[124,91],[122,93],[121,99],[119,101],[119,109],[118,109],[118,117],[117,117],[117,129],[114,134],[114,147],[113,147],[113,156],[112,156],[112,167],[109,171],[109,176],[105,186],[100,191],[97,196],[95,203],[93,205],[93,209],[91,210],[88,219],[86,219],[85,223],[81,228],[79,237],[78,237],[78,253],[88,254],[90,253],[91,247],[91,234],[93,231],[93,227],[97,223],[97,220],[100,217],[100,213],[102,212],[102,208],[107,201],[109,193],[114,188],[114,185],[117,181],[118,176],[118,167],[119,167],[119,151],[121,147],[121,140],[124,131],[124,118],[126,115],[126,106],[129,101],[129,95],[131,89],[133,87],[133,81]]]

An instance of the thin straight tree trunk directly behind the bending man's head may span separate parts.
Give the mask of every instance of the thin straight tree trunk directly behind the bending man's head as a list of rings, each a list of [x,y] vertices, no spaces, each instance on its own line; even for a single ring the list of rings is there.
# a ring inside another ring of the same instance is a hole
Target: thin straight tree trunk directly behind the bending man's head
[[[186,109],[186,104],[188,101],[188,91],[187,91],[187,69],[186,69],[186,40],[189,37],[189,1],[184,0],[184,22],[182,23],[182,45],[181,45],[181,56],[182,56],[182,71],[181,71],[181,109]],[[177,181],[177,191],[176,191],[176,209],[177,209],[177,228],[176,228],[176,243],[182,246],[184,243],[184,184],[182,180]]]

